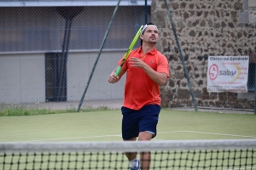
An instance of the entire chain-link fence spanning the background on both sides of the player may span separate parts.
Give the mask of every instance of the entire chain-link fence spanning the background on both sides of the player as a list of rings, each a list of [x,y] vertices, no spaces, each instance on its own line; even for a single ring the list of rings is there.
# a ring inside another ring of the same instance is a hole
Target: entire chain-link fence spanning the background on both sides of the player
[[[253,0],[118,2],[0,1],[0,102],[77,107],[88,85],[83,105],[120,107],[125,78],[109,84],[108,76],[148,20],[170,65],[162,107],[253,112]],[[208,92],[210,56],[249,56],[248,93]]]

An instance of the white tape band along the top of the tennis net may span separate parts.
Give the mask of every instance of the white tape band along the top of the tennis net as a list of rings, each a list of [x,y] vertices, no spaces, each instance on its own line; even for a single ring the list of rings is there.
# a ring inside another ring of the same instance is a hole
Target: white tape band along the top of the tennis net
[[[256,148],[256,139],[175,140],[140,142],[11,142],[0,143],[0,152],[37,151],[154,151],[230,150]]]

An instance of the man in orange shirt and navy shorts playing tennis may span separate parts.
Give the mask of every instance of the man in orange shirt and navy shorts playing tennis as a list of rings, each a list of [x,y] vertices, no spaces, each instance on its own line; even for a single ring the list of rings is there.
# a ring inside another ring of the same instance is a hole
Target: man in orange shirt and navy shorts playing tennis
[[[168,61],[155,47],[159,39],[158,32],[153,23],[143,26],[140,35],[142,46],[131,51],[119,76],[115,76],[115,69],[108,78],[109,83],[115,83],[126,72],[125,98],[121,108],[124,141],[135,141],[137,137],[139,141],[151,140],[156,136],[161,101],[159,87],[165,85],[169,77]],[[123,58],[119,60],[119,65]],[[131,163],[131,170],[149,169],[150,152],[140,155],[139,161],[136,153],[125,153]]]

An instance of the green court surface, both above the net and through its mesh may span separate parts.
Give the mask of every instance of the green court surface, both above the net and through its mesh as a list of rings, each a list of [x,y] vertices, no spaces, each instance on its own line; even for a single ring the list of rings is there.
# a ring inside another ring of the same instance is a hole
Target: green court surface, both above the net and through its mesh
[[[106,107],[102,109],[104,108]],[[121,120],[122,115],[119,110],[91,110],[90,112],[42,116],[3,116],[0,118],[0,143],[122,141]],[[256,139],[255,122],[256,116],[254,115],[162,109],[158,123],[158,134],[153,140]],[[183,156],[180,153],[174,155],[173,152],[170,152],[167,155],[164,152],[160,156],[153,157],[152,169],[167,169],[167,166],[168,169],[180,170],[254,169],[255,151],[247,151],[245,152],[246,155],[239,151],[237,150],[236,156],[230,150],[219,154],[213,150],[209,155],[204,154],[205,152],[199,155],[195,152],[183,151],[185,154]],[[59,154],[48,157],[47,153],[45,154],[34,156],[34,153],[31,155],[24,153],[20,156],[20,153],[17,153],[16,157],[9,154],[5,157],[5,162],[8,163],[3,165],[1,164],[3,161],[1,161],[0,153],[0,167],[3,169],[80,169],[83,167],[85,169],[96,169],[96,167],[98,169],[128,169],[129,167],[123,153],[118,156],[119,162],[108,161],[108,158],[115,159],[115,155],[105,155],[107,157],[102,158],[102,161],[94,161],[101,156],[89,155],[89,159],[85,159],[87,156],[84,155],[63,156]],[[230,161],[223,161],[224,156],[228,156]],[[245,167],[244,161],[247,157],[247,167]],[[61,161],[63,159],[65,161]],[[199,159],[201,162],[194,161]],[[38,164],[34,162],[38,162]],[[210,163],[212,168],[209,167]],[[226,166],[227,164],[230,167]],[[231,167],[233,164],[234,167]]]

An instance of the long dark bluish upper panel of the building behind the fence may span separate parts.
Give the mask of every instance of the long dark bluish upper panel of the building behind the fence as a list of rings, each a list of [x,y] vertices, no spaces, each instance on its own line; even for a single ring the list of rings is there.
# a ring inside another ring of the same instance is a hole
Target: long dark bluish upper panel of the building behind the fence
[[[69,50],[101,48],[114,8],[84,7],[72,20]],[[119,7],[104,48],[129,47],[137,30],[144,24],[143,8]],[[61,51],[66,20],[57,13],[55,7],[0,8],[0,15],[0,35],[3,35],[0,36],[0,52]]]

